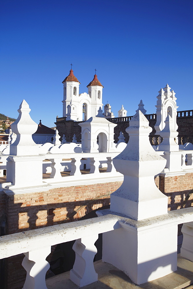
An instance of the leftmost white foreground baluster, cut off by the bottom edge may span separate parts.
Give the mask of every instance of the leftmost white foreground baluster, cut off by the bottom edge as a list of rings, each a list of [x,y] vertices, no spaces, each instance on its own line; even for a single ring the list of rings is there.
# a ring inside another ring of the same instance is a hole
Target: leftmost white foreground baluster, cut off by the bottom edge
[[[23,268],[27,272],[23,289],[47,289],[45,276],[50,268],[46,257],[51,252],[51,246],[24,253],[22,262]]]

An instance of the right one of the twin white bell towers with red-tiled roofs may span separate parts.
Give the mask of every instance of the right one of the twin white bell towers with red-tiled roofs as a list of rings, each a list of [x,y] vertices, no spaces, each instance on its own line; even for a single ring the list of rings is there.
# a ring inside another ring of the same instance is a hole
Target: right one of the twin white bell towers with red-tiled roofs
[[[97,75],[94,75],[93,80],[87,85],[88,87],[88,95],[91,98],[91,115],[96,116],[99,107],[103,106],[102,103],[102,93],[103,86],[97,78]]]

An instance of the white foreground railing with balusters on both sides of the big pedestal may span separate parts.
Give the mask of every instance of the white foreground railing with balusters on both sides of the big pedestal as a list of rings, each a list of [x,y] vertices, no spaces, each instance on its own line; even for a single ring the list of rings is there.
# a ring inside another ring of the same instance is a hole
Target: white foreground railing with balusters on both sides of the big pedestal
[[[99,211],[98,215],[97,218],[1,236],[0,259],[23,253],[25,257],[22,265],[27,271],[24,288],[46,289],[45,275],[49,269],[46,257],[51,252],[51,246],[56,244],[56,240],[57,244],[76,240],[73,245],[76,258],[73,269],[70,271],[70,279],[79,287],[91,284],[98,279],[93,264],[94,255],[97,252],[94,243],[98,239],[98,234],[124,229],[126,226],[128,229],[130,228],[129,230],[132,230],[133,225],[137,222],[114,214],[110,210]],[[155,230],[157,228],[155,220],[157,220],[156,217],[150,218],[146,226],[151,230]],[[168,212],[168,216],[159,217],[160,226],[167,227],[171,222],[175,223],[175,226],[184,223],[181,256],[187,257],[188,253],[188,259],[191,261],[193,261],[193,234],[190,234],[192,220],[193,212],[191,208]],[[141,221],[142,224],[143,222],[144,220]],[[116,248],[114,250],[116,251]],[[177,251],[177,243],[173,251]],[[112,254],[114,253],[112,252]]]

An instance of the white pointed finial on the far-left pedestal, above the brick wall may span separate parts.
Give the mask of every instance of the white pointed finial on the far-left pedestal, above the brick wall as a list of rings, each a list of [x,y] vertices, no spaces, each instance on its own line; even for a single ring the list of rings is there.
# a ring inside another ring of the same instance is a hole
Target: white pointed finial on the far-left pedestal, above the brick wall
[[[10,155],[36,155],[38,147],[32,139],[38,129],[38,124],[29,115],[31,109],[25,99],[19,106],[19,116],[11,124],[12,131],[17,135],[14,143],[10,145]]]

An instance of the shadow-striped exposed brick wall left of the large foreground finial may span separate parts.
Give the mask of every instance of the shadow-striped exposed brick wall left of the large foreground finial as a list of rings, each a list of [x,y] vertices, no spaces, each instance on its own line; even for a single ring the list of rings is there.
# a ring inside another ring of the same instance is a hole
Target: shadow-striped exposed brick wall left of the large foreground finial
[[[2,194],[0,201],[4,204],[7,216],[6,234],[79,220],[85,214],[109,205],[110,193],[121,184],[121,181],[117,181],[55,188],[33,194]],[[5,259],[6,289],[23,288],[26,276],[21,265],[23,258],[21,254]],[[47,260],[51,260],[51,255]]]

